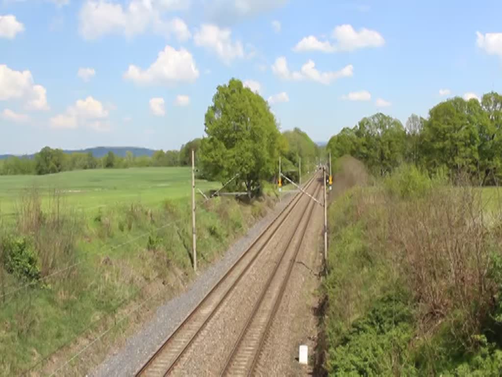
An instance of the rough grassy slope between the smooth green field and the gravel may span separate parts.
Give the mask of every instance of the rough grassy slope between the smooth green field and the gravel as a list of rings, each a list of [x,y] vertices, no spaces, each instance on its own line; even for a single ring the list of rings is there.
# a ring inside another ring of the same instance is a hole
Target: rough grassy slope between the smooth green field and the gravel
[[[274,203],[229,198],[198,203],[199,268],[217,259]],[[128,309],[156,293],[159,300],[168,299],[194,277],[190,216],[188,200],[166,199],[161,206],[134,202],[94,209],[83,217],[57,191],[50,200],[40,190],[24,191],[16,216],[5,226],[0,222],[0,294],[15,292],[4,296],[0,306],[0,323],[5,324],[0,374],[50,374],[79,346],[112,327],[65,372],[85,374],[86,366],[96,365],[109,346],[145,319],[134,316],[114,327]],[[16,260],[34,261],[40,271],[36,278],[5,268],[12,240],[27,241],[23,258]],[[32,252],[36,258],[25,257]]]

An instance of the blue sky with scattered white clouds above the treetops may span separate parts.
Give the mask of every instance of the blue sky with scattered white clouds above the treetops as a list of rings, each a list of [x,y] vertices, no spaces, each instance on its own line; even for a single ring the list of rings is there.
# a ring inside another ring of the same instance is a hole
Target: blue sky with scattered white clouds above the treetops
[[[0,154],[178,149],[231,77],[315,141],[501,91],[499,1],[0,0]],[[258,85],[258,86],[257,86]]]

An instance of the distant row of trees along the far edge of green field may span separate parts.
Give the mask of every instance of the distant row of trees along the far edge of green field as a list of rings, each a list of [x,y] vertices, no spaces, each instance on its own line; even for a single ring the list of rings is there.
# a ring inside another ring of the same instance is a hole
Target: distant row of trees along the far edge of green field
[[[135,156],[131,151],[121,157],[112,151],[97,158],[92,152],[65,153],[62,149],[42,148],[33,158],[10,156],[0,160],[0,175],[53,174],[70,170],[129,168],[149,166],[187,166],[191,164],[191,150],[197,150],[201,139],[184,144],[180,150],[157,150],[152,157]]]

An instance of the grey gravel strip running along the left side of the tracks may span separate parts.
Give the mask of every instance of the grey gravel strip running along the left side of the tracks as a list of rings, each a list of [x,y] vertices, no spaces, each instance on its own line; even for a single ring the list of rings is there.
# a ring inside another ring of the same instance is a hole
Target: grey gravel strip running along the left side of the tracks
[[[130,337],[121,349],[109,355],[89,375],[101,377],[134,374],[293,197],[294,192],[283,195],[282,202],[235,242],[222,258],[200,272],[182,294],[160,306],[153,318],[145,323],[139,332]]]

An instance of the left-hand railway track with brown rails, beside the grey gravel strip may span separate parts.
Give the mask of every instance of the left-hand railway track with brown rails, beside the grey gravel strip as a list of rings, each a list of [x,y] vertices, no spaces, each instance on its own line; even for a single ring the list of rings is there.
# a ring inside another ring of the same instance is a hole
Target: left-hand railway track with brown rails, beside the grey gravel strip
[[[306,189],[315,182],[314,176],[307,184]],[[162,346],[150,357],[147,363],[136,373],[137,376],[162,376],[169,375],[175,371],[182,356],[187,352],[194,341],[201,336],[203,329],[211,321],[215,313],[223,306],[227,297],[237,286],[239,281],[245,276],[250,267],[253,266],[257,258],[266,249],[274,236],[280,232],[281,226],[291,216],[293,210],[297,208],[302,199],[302,194],[298,193],[286,206],[281,213],[272,221],[254,242],[247,248],[241,257],[230,267],[227,273],[215,284],[210,292],[202,299],[197,307],[186,317],[186,319],[177,327],[173,334],[162,344]],[[309,207],[307,202],[304,212]],[[310,211],[310,213],[312,210]],[[299,216],[297,227],[303,220]],[[310,215],[308,216],[310,217]],[[308,224],[308,222],[307,222]],[[306,229],[306,228],[305,228]],[[303,231],[303,234],[305,230]],[[287,254],[292,235],[287,246],[282,252],[281,261]],[[302,235],[303,238],[303,235]],[[299,246],[298,246],[299,248]],[[296,254],[295,254],[296,255]],[[282,263],[277,263],[273,274]],[[284,288],[283,288],[284,289]]]

